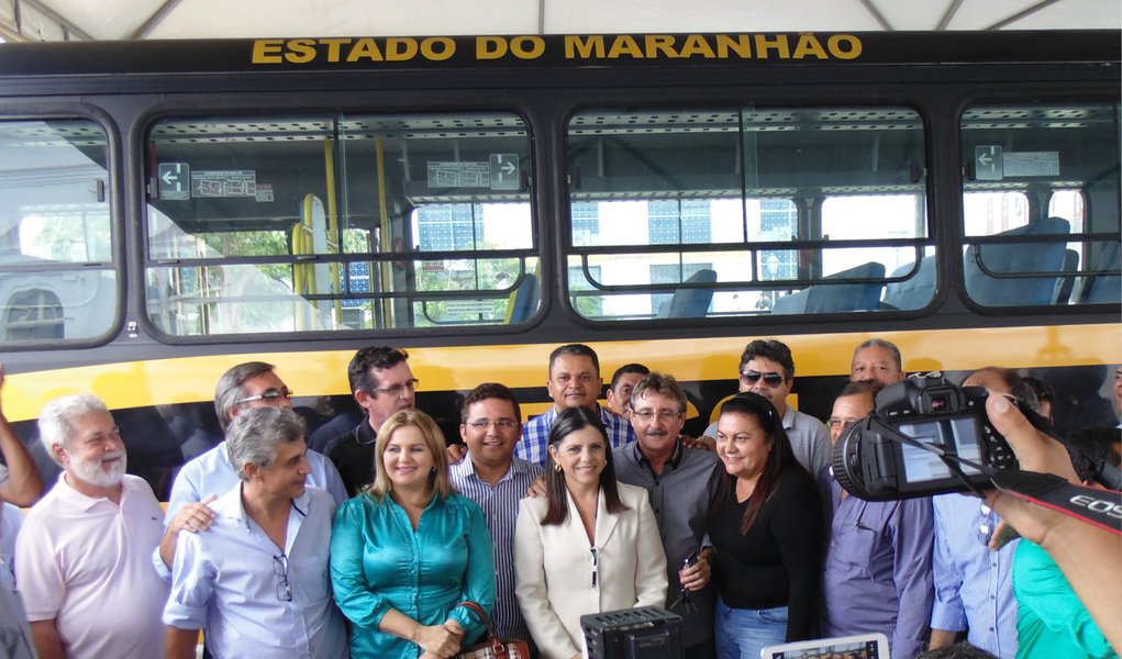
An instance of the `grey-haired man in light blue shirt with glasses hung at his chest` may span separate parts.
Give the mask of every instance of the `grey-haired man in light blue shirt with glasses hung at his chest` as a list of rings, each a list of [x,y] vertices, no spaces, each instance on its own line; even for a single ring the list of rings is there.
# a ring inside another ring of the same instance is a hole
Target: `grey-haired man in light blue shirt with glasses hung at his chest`
[[[227,429],[238,484],[211,505],[205,533],[182,533],[164,607],[167,656],[347,656],[328,578],[335,503],[307,486],[304,424],[289,409],[239,414]]]

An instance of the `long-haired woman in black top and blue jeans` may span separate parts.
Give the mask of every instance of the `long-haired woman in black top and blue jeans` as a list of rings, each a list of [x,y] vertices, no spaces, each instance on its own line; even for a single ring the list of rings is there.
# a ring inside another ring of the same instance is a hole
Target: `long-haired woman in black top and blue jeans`
[[[782,419],[757,393],[739,393],[721,406],[717,455],[729,474],[709,520],[720,595],[717,655],[756,659],[765,646],[812,638],[821,503]]]

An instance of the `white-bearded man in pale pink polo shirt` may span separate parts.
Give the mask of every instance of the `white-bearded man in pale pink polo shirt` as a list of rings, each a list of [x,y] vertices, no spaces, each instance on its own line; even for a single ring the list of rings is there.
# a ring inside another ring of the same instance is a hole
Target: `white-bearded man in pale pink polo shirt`
[[[39,416],[39,438],[63,467],[16,542],[39,657],[163,657],[167,584],[149,561],[164,512],[148,483],[125,473],[112,415],[93,396],[58,398]]]

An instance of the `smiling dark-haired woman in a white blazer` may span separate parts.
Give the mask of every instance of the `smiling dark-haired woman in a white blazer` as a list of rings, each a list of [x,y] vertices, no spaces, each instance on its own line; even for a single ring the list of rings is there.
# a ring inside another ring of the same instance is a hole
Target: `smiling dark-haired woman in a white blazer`
[[[516,593],[543,659],[572,659],[585,655],[581,615],[665,605],[666,558],[646,490],[616,482],[596,414],[558,415],[545,481],[518,510]]]

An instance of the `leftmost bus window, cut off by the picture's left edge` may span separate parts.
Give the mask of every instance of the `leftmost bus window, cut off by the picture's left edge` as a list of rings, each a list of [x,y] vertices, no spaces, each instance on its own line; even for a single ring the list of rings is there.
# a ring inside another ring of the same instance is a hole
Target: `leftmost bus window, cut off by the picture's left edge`
[[[105,131],[0,121],[0,343],[90,343],[120,313]]]

